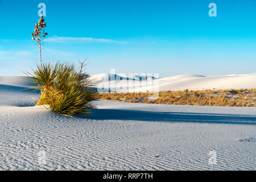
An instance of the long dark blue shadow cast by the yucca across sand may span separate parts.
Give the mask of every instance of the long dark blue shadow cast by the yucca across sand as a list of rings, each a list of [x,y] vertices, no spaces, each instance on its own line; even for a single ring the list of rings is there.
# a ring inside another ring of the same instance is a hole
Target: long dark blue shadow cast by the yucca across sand
[[[76,117],[98,120],[115,119],[123,121],[256,125],[255,115],[238,114],[178,113],[119,109],[95,109],[92,110],[92,115],[86,117],[78,115]]]

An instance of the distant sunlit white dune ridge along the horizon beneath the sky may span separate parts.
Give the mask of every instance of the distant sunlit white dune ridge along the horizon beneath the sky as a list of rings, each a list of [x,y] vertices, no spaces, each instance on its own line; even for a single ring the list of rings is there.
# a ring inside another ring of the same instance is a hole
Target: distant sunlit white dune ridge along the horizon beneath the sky
[[[30,87],[32,84],[26,76],[0,76],[0,84]],[[205,90],[205,89],[241,89],[256,88],[256,73],[245,75],[200,76],[178,75],[155,78],[139,75],[92,75],[92,80],[99,92],[109,90],[125,92],[128,88],[134,92],[168,91],[168,90]],[[115,82],[114,82],[115,80]],[[151,85],[152,84],[152,85]],[[149,85],[149,86],[148,86]],[[102,89],[103,88],[103,89]]]

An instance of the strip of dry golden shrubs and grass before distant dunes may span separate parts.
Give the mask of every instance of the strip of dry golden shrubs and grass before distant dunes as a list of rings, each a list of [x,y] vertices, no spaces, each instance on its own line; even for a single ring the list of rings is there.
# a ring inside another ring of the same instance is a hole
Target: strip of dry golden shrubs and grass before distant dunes
[[[100,93],[100,98],[123,102],[139,102],[150,104],[201,105],[201,106],[243,106],[255,107],[256,89],[220,89],[220,90],[188,90],[159,92],[159,97],[148,100],[154,93]]]

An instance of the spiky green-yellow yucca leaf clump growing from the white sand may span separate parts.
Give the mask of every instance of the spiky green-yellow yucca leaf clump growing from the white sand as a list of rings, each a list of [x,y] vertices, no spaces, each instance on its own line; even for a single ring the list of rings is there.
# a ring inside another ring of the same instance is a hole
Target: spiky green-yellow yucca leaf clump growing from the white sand
[[[36,105],[64,115],[89,114],[94,108],[92,101],[98,96],[83,68],[84,62],[80,62],[79,69],[59,62],[38,65],[32,74],[27,74],[36,85],[32,89],[40,90]]]

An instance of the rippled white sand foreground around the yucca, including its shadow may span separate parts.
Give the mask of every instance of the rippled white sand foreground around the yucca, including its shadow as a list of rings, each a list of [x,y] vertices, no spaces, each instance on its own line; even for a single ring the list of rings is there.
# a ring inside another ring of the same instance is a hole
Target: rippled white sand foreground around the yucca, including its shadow
[[[0,85],[0,170],[256,169],[255,107],[95,101],[91,116],[65,117],[35,96]]]

